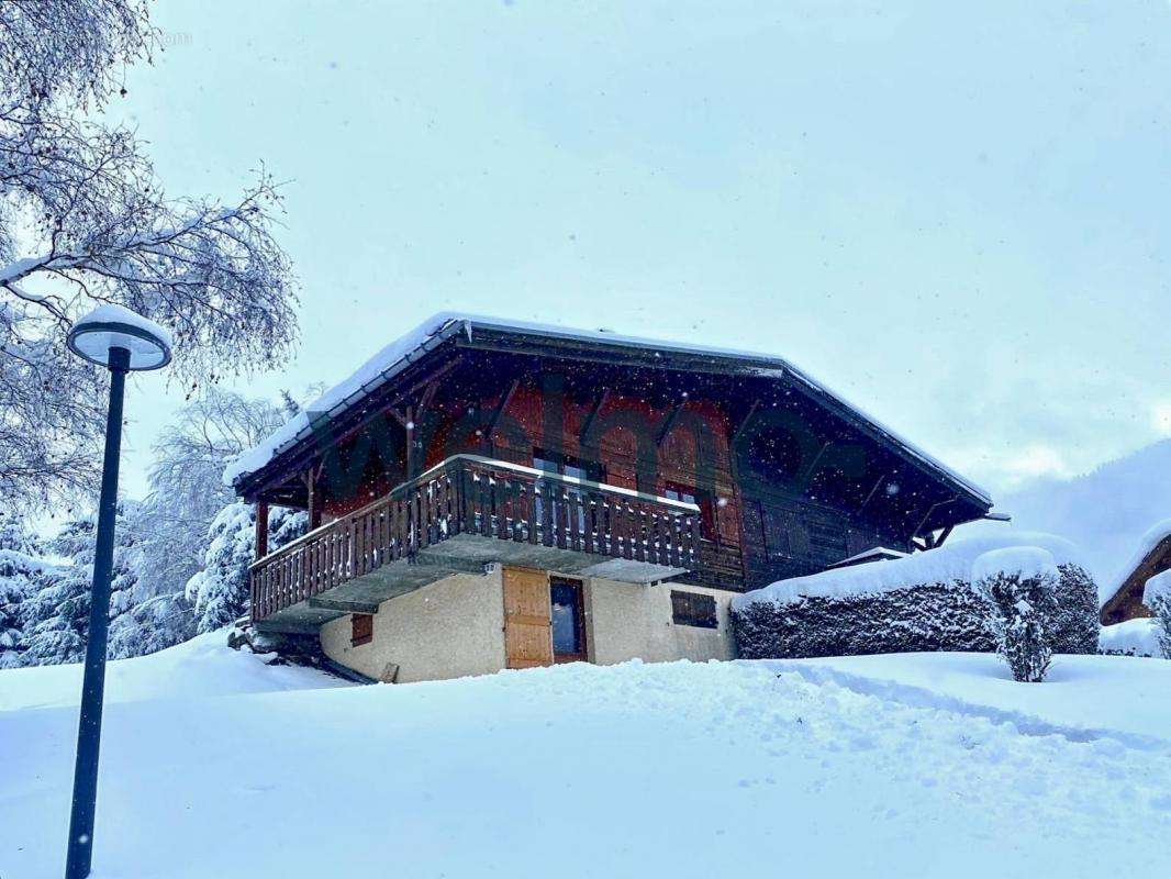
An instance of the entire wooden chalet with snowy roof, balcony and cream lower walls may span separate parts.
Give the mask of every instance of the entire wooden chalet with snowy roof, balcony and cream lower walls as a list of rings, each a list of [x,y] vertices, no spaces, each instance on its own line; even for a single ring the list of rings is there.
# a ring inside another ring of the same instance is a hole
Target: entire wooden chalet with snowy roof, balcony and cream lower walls
[[[254,624],[383,680],[731,657],[735,592],[992,505],[778,357],[460,315],[228,476],[258,505]],[[273,504],[310,530],[269,552]]]

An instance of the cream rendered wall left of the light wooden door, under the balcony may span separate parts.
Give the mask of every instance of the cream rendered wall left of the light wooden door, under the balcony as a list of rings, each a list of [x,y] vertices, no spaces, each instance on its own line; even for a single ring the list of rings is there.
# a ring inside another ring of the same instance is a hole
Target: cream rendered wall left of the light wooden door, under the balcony
[[[399,683],[492,674],[505,667],[505,612],[500,568],[453,574],[378,606],[374,640],[350,643],[349,616],[321,628],[335,662],[381,680],[388,663]]]

